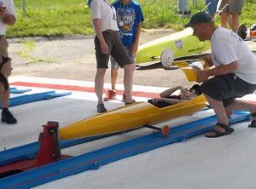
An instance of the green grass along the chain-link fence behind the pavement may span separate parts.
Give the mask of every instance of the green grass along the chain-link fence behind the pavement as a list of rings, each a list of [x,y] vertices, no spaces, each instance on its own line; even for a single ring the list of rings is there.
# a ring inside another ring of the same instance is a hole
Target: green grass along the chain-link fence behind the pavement
[[[26,0],[26,14],[22,11],[23,0],[15,0],[18,21],[10,26],[8,37],[91,35],[90,9],[85,0]],[[137,0],[142,6],[145,21],[143,27],[172,28],[182,30],[189,18],[182,19],[177,15],[177,0]],[[188,9],[192,13],[205,7],[205,0],[188,1]],[[241,14],[241,23],[250,27],[255,23],[255,0],[245,1]],[[216,20],[219,24],[219,16]]]

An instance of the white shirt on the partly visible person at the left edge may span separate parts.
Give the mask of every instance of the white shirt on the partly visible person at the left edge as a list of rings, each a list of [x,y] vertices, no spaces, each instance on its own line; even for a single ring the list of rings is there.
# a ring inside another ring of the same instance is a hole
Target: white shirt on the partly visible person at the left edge
[[[15,14],[15,5],[13,0],[0,0],[0,7],[5,7],[7,14],[13,14],[16,18]],[[3,21],[0,19],[0,35],[5,35],[6,26]]]

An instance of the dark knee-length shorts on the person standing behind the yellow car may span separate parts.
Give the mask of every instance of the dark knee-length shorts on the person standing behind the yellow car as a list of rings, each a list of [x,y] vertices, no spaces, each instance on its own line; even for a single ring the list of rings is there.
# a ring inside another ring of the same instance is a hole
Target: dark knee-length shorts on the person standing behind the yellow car
[[[102,54],[101,44],[98,37],[95,37],[96,63],[97,68],[108,68],[108,60],[111,55],[120,67],[126,64],[133,64],[129,54],[127,54],[125,47],[119,39],[118,31],[103,31],[103,37],[108,44],[110,54]]]

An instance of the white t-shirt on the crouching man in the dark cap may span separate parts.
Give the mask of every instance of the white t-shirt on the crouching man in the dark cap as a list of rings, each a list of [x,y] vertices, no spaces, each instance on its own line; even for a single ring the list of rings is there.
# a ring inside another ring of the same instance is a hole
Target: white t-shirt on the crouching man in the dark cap
[[[233,31],[218,27],[212,34],[211,43],[215,66],[228,65],[237,60],[236,76],[247,83],[256,84],[256,59],[241,37]]]

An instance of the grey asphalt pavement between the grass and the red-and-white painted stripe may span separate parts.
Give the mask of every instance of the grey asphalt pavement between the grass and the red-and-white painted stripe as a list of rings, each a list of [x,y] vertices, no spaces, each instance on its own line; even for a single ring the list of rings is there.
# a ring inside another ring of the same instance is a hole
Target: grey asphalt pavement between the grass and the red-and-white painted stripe
[[[146,43],[171,31],[144,31],[140,43]],[[256,42],[247,41],[256,57]],[[93,37],[45,39],[42,37],[9,40],[9,54],[13,58],[13,75],[65,78],[94,81],[96,60]],[[110,83],[110,69],[106,74]],[[123,83],[119,69],[117,83]],[[183,72],[176,67],[164,69],[160,63],[137,66],[134,84],[156,87],[191,86]]]

